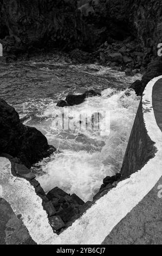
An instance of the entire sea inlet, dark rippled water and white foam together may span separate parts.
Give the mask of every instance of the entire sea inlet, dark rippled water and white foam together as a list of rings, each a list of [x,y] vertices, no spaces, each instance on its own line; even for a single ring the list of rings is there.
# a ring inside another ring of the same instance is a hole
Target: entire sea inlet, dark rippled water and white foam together
[[[1,66],[1,97],[15,107],[25,125],[36,127],[61,151],[32,168],[45,192],[58,186],[86,202],[103,178],[120,171],[139,105],[134,91],[125,92],[139,78],[99,65],[50,61]],[[56,107],[67,94],[88,89],[100,90],[101,96],[65,110]],[[63,111],[70,123],[66,129],[58,125]]]

